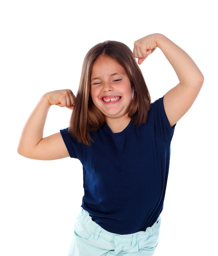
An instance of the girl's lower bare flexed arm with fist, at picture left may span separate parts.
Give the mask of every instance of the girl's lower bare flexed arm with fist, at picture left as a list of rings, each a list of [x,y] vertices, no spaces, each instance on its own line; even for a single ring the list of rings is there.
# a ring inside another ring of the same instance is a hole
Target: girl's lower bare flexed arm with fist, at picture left
[[[43,138],[45,121],[51,105],[73,110],[75,96],[71,90],[45,93],[29,116],[18,144],[18,153],[24,157],[53,160],[68,157],[69,153],[60,132]]]

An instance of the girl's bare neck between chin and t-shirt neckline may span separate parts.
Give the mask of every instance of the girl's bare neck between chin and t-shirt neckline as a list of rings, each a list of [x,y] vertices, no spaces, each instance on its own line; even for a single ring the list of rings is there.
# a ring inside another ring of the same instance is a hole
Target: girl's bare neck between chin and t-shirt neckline
[[[122,118],[105,118],[107,125],[113,133],[122,132],[131,121],[128,116]]]

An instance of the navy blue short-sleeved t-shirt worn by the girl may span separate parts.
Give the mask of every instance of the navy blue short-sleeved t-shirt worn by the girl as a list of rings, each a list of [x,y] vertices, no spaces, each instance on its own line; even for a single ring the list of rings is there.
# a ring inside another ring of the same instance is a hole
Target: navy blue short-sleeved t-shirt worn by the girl
[[[105,123],[91,133],[90,146],[60,130],[70,157],[83,166],[82,207],[103,229],[132,234],[151,227],[160,215],[169,172],[174,133],[163,97],[151,103],[146,124],[118,133]]]

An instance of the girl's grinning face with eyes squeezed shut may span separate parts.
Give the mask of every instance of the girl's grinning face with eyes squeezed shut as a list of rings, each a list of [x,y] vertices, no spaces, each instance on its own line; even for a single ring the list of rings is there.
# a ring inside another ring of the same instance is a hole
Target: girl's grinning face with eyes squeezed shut
[[[132,101],[131,82],[125,69],[113,58],[100,55],[91,72],[91,99],[106,122],[128,116]]]

